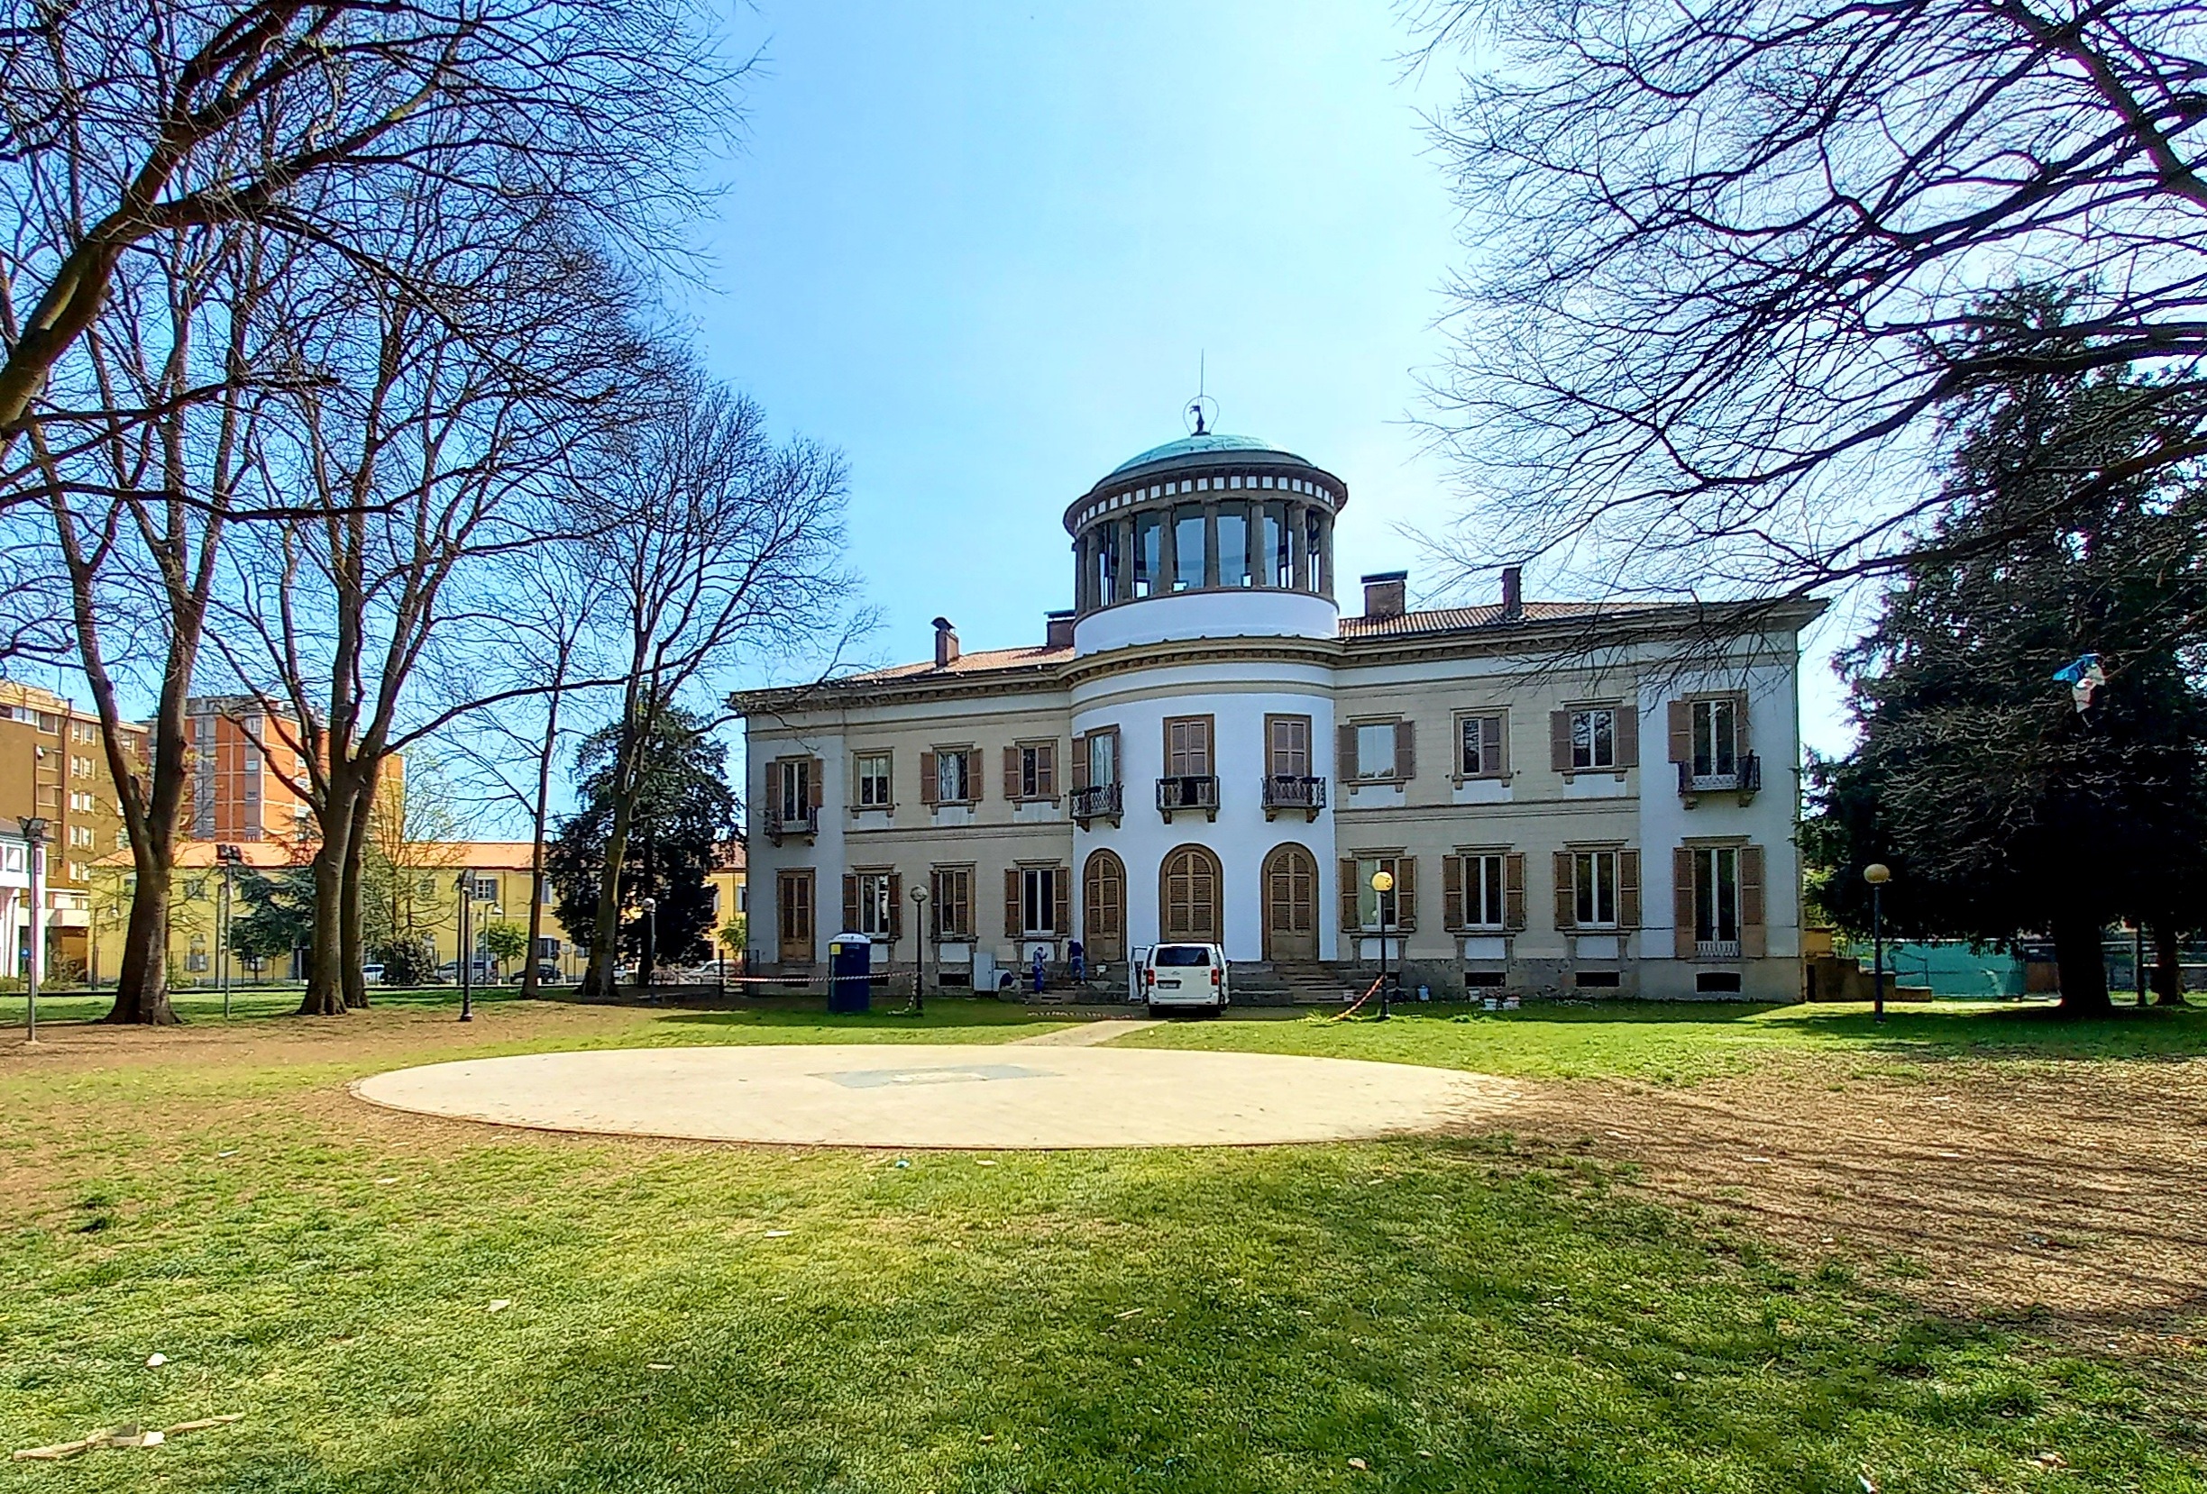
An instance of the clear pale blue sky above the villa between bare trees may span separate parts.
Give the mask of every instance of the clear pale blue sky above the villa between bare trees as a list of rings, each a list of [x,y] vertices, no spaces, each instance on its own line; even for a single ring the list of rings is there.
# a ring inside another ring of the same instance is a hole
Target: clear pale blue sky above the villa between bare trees
[[[1410,426],[1463,249],[1388,4],[761,0],[744,152],[691,302],[708,366],[850,457],[878,662],[1039,642],[1059,514],[1220,426],[1348,481],[1337,569],[1408,567],[1454,516]],[[1538,591],[1538,587],[1536,587]],[[1836,746],[1821,658],[1810,739]]]

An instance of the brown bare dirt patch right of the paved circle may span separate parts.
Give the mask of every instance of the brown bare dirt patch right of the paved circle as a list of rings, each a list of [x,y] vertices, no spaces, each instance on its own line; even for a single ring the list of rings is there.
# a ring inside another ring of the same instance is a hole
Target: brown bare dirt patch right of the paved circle
[[[1693,1088],[1527,1086],[1512,1121],[1931,1306],[2103,1348],[2167,1344],[2207,1309],[2207,1059],[1801,1059]]]

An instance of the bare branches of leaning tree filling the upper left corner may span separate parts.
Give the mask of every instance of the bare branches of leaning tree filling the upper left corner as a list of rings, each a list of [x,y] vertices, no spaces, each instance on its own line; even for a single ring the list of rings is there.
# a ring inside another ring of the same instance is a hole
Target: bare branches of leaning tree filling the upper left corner
[[[364,203],[463,190],[664,252],[742,71],[693,18],[680,0],[7,0],[0,461],[68,415],[38,408],[49,375],[124,256],[166,234],[256,223],[369,258]]]

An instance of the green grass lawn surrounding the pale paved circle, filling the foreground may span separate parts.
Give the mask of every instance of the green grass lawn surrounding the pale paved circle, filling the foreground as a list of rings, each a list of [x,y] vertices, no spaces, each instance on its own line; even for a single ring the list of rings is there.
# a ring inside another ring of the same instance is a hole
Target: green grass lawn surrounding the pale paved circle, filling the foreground
[[[1686,1075],[1710,1070],[1697,1048],[1724,1068],[1757,1044],[1872,1042],[1847,1017],[1697,1017],[1143,1039],[1521,1075]],[[150,1452],[13,1465],[7,1487],[2203,1481],[2207,1408],[2139,1368],[2028,1324],[1927,1315],[1505,1139],[894,1159],[430,1125],[355,1108],[338,1084],[463,1050],[1039,1031],[1017,1009],[940,1002],[925,1026],[519,1004],[475,1031],[371,1022],[391,1026],[373,1055],[256,1053],[256,1035],[329,1031],[269,1020],[238,1022],[221,1061],[163,1057],[159,1035],[97,1066],[0,1061],[0,1434],[24,1448],[245,1412]],[[168,1364],[146,1368],[152,1353]],[[2046,1452],[2066,1468],[2039,1470]]]

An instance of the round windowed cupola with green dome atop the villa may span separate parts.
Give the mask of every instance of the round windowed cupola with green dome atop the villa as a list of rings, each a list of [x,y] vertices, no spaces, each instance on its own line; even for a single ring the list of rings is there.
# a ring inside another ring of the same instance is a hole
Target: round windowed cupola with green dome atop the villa
[[[1245,435],[1203,428],[1112,468],[1066,510],[1075,647],[1335,631],[1333,521],[1348,485]],[[1170,613],[1154,607],[1185,598]],[[1249,600],[1227,600],[1249,598]],[[1132,609],[1108,627],[1101,616]]]

